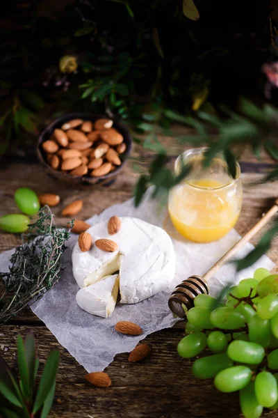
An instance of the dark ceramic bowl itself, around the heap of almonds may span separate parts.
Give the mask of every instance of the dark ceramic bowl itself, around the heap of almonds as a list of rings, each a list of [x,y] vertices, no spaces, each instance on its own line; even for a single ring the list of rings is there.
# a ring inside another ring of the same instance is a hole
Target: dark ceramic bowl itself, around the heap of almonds
[[[89,114],[89,113],[73,113],[73,114],[67,114],[66,116],[62,116],[56,121],[52,122],[47,128],[40,134],[40,138],[38,140],[37,144],[37,154],[38,159],[42,163],[42,167],[44,168],[47,173],[51,177],[57,178],[58,180],[63,181],[64,183],[69,184],[88,184],[88,185],[96,185],[96,184],[103,184],[103,185],[109,185],[113,183],[113,180],[117,177],[117,175],[122,171],[124,168],[124,164],[126,164],[126,159],[129,157],[129,154],[131,153],[131,147],[132,147],[132,139],[131,134],[129,133],[129,130],[126,129],[122,123],[119,123],[117,121],[113,120],[113,127],[115,130],[120,132],[122,136],[124,137],[124,144],[126,144],[126,150],[121,155],[122,164],[119,167],[116,167],[114,171],[111,171],[111,173],[106,174],[105,176],[101,177],[90,177],[90,176],[72,176],[69,173],[66,173],[65,171],[58,171],[54,170],[46,160],[46,153],[42,149],[42,143],[44,141],[47,141],[51,137],[51,134],[53,134],[54,130],[56,128],[60,128],[65,122],[72,121],[72,119],[83,119],[84,121],[96,121],[100,118],[108,118],[108,116],[105,115],[95,115],[95,114]]]

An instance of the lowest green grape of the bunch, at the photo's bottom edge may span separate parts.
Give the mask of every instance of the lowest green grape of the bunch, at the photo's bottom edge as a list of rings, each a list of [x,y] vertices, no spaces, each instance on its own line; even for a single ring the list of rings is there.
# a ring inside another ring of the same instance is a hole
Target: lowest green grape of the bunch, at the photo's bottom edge
[[[256,400],[254,382],[248,383],[247,386],[239,392],[239,401],[241,412],[245,418],[259,418],[263,413],[263,406],[259,405]]]

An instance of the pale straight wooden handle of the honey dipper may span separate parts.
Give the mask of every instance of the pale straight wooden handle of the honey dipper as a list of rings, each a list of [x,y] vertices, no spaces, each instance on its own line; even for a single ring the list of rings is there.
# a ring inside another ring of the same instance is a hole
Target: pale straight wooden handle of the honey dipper
[[[265,213],[265,215],[259,220],[259,222],[257,222],[254,226],[252,226],[250,231],[245,233],[245,235],[243,235],[243,238],[241,238],[238,242],[236,242],[234,247],[231,247],[231,249],[229,249],[229,251],[227,251],[227,253],[224,254],[224,256],[222,256],[220,260],[218,260],[217,263],[215,263],[204,274],[202,278],[204,280],[208,280],[211,277],[213,277],[215,272],[217,272],[222,267],[222,265],[227,263],[227,261],[229,261],[230,258],[234,256],[234,254],[236,254],[236,251],[238,251],[238,249],[243,247],[243,245],[245,245],[247,241],[253,238],[254,235],[256,235],[256,233],[258,233],[263,228],[263,226],[265,226],[268,223],[268,221],[272,218],[272,216],[274,216],[275,213],[277,212],[278,212],[278,199],[275,201],[275,205],[272,206],[272,208],[270,208],[270,210],[268,210],[268,212]]]

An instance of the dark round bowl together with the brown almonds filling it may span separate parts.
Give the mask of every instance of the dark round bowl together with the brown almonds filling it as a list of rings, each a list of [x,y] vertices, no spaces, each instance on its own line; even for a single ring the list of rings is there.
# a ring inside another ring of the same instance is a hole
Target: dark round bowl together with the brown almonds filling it
[[[40,135],[37,153],[44,169],[64,183],[108,185],[131,153],[129,130],[104,115],[68,114]]]

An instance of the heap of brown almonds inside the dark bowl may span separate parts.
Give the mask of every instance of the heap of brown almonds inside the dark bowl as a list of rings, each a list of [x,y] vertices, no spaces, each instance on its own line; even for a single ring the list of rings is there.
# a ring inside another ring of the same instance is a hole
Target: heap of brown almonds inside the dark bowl
[[[122,164],[120,154],[126,150],[122,134],[112,126],[111,119],[64,123],[42,143],[47,162],[72,176],[105,176]]]

